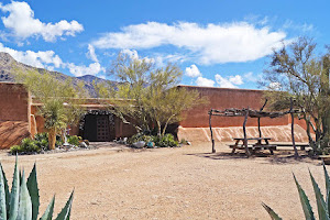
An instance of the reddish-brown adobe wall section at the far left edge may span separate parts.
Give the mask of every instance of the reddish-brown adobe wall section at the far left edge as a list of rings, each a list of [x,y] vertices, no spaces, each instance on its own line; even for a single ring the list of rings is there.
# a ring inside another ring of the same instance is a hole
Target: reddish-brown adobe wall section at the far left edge
[[[0,148],[30,136],[30,94],[20,84],[0,82]]]

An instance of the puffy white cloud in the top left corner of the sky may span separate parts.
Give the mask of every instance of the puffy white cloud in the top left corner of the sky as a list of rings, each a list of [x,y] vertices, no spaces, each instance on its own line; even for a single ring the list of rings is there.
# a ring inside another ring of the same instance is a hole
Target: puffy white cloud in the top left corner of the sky
[[[84,26],[77,21],[62,20],[57,23],[43,23],[34,18],[34,11],[26,2],[12,1],[9,4],[0,4],[3,12],[9,12],[8,16],[1,20],[7,29],[10,29],[19,38],[30,36],[42,36],[46,42],[54,42],[56,37],[75,36],[84,31]]]

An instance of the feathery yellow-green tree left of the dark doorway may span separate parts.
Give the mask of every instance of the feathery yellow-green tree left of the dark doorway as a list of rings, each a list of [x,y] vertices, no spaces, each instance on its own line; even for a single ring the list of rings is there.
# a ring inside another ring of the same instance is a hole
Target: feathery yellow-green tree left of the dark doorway
[[[86,96],[82,85],[75,88],[70,80],[58,80],[47,72],[40,74],[16,70],[14,77],[41,102],[37,113],[45,120],[50,150],[54,150],[56,135],[63,134],[67,125],[74,124],[82,114],[84,110],[79,105]]]

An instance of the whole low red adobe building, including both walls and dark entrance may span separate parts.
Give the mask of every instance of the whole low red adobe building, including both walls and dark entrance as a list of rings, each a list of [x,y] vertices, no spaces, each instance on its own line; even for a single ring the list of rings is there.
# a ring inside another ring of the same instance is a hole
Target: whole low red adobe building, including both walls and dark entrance
[[[260,109],[264,102],[262,90],[226,89],[212,87],[179,86],[187,89],[197,89],[200,96],[208,99],[208,103],[183,112],[183,120],[177,124],[175,132],[179,140],[195,142],[210,141],[209,116],[210,109],[226,108]],[[89,141],[112,141],[117,138],[131,136],[135,130],[124,124],[119,118],[109,113],[103,100],[87,99],[82,105],[87,112],[79,124],[70,128],[69,133],[81,135]],[[0,148],[9,148],[28,136],[44,132],[43,118],[37,114],[38,103],[23,85],[0,82]],[[242,136],[242,118],[213,118],[212,127],[216,141],[232,141],[233,136]],[[264,136],[274,141],[290,141],[290,119],[288,116],[277,119],[262,119]],[[248,136],[257,136],[256,119],[248,121]],[[295,125],[297,142],[307,142],[302,121]]]

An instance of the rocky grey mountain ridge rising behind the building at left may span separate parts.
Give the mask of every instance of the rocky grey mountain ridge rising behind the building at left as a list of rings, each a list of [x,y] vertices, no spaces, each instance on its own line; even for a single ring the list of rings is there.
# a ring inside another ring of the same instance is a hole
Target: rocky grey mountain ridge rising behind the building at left
[[[22,70],[23,73],[29,73],[29,72],[37,72],[40,74],[44,73],[50,73],[51,75],[55,76],[58,80],[66,80],[66,79],[72,79],[73,86],[76,86],[82,81],[84,88],[88,91],[90,97],[96,97],[96,90],[94,88],[92,81],[96,82],[110,82],[113,86],[116,86],[118,82],[117,81],[111,81],[107,79],[102,79],[92,75],[85,75],[80,77],[73,77],[73,76],[67,76],[65,74],[62,74],[59,72],[51,72],[44,68],[36,68],[33,66],[29,66],[26,64],[22,64],[18,61],[15,61],[10,54],[0,52],[0,81],[10,81],[14,82],[14,77],[13,77],[13,72],[14,69],[16,70]]]

